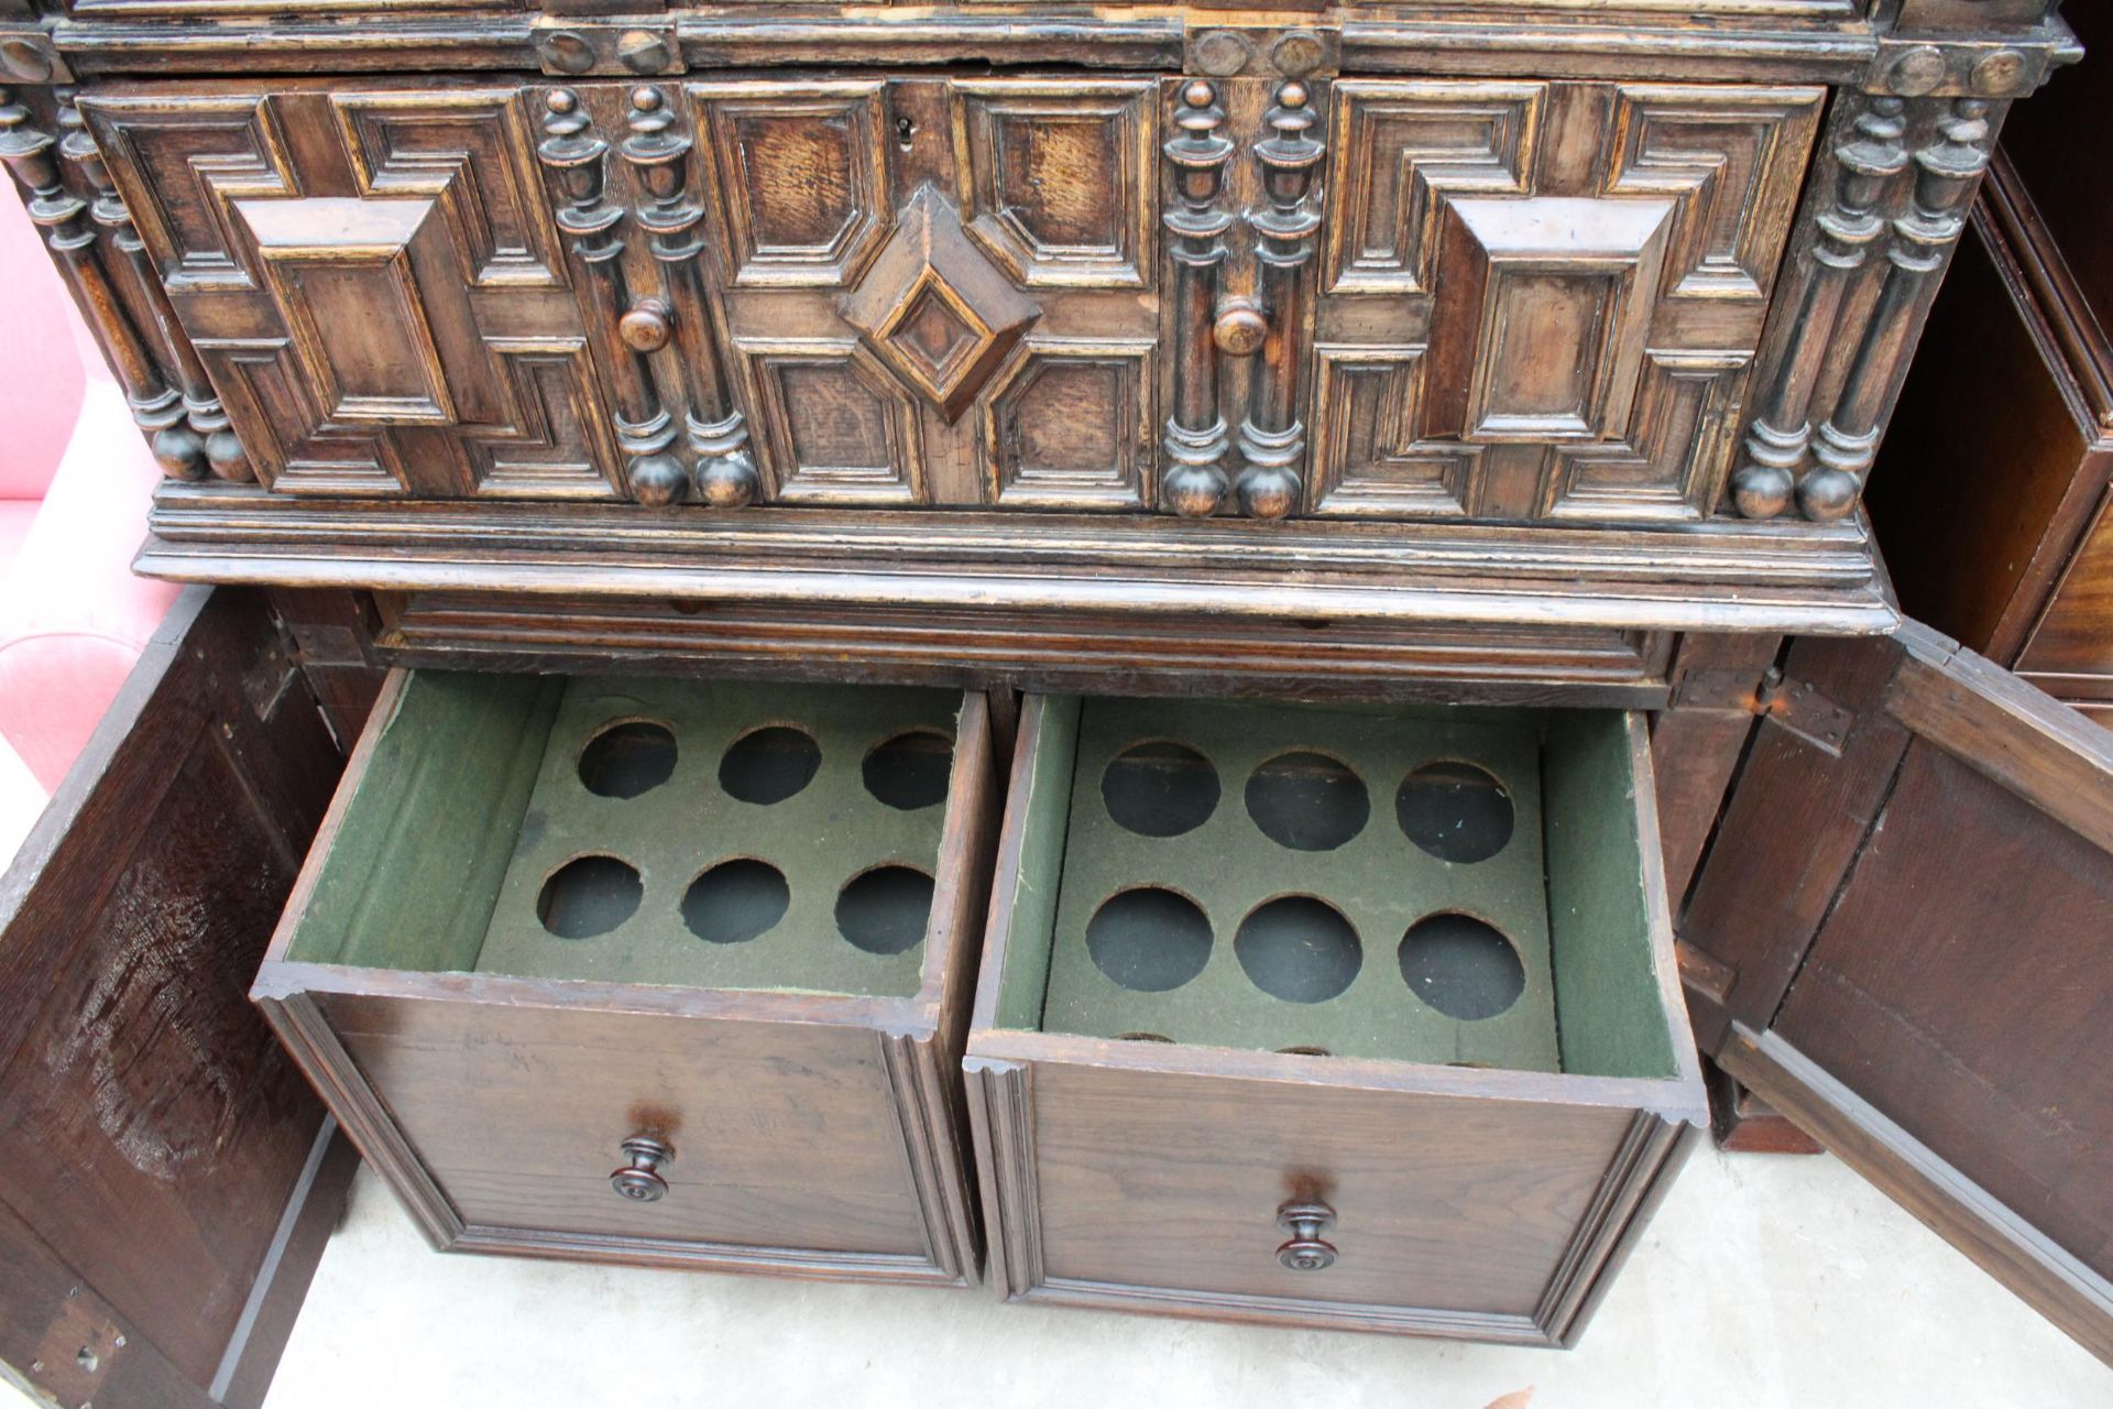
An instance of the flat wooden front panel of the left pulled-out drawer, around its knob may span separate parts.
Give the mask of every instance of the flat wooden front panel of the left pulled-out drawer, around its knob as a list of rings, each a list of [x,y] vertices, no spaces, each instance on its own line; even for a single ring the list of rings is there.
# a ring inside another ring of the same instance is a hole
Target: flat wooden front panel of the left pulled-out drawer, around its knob
[[[471,1229],[930,1255],[881,1041],[799,1027],[321,995]],[[619,1196],[621,1145],[674,1149]]]

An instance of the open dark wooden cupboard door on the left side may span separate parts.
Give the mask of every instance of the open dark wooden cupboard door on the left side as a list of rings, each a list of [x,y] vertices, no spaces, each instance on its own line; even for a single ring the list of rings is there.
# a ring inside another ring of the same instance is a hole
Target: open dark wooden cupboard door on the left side
[[[258,1405],[357,1164],[249,1006],[342,769],[256,591],[177,598],[0,877],[0,1382]]]

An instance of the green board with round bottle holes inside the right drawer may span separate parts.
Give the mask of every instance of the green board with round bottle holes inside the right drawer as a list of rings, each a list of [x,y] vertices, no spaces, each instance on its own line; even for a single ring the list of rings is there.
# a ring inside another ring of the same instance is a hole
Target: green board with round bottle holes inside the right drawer
[[[1103,771],[1118,754],[1160,739],[1198,750],[1217,769],[1221,788],[1211,818],[1179,837],[1141,837],[1118,826],[1101,792]],[[1278,845],[1249,815],[1245,792],[1253,769],[1295,750],[1335,758],[1365,784],[1369,815],[1340,847]],[[1397,826],[1397,786],[1441,758],[1485,769],[1511,796],[1513,837],[1498,856],[1441,862]],[[1084,706],[1071,773],[1071,828],[1044,1012],[1050,1027],[1092,1037],[1154,1033],[1192,1046],[1557,1069],[1532,716],[1477,710],[1390,718],[1223,701],[1092,699]],[[1179,891],[1211,919],[1211,957],[1177,989],[1126,989],[1088,953],[1095,910],[1137,885]],[[1240,921],[1278,896],[1319,898],[1357,929],[1361,963],[1340,995],[1316,1003],[1272,997],[1240,965],[1234,951]],[[1403,934],[1437,913],[1473,915],[1511,940],[1526,989],[1509,1010],[1464,1022],[1426,1006],[1403,982],[1397,957]]]

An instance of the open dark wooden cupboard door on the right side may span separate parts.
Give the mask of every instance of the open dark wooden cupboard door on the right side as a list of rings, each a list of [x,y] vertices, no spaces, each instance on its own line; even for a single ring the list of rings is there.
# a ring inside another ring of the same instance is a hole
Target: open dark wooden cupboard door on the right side
[[[2113,1360],[2113,733],[1914,623],[1773,695],[1682,915],[1697,1037]]]

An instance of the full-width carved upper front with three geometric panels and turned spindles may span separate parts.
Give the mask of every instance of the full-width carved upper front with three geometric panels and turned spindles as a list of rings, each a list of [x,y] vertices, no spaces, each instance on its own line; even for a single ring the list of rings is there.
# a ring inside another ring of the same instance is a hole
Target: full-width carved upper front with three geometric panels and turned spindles
[[[167,439],[182,473],[1663,522],[1722,499],[1821,99],[1069,74],[80,108],[192,427],[230,422]]]

